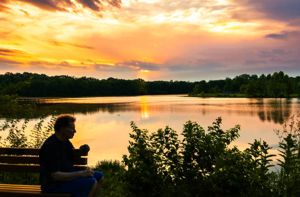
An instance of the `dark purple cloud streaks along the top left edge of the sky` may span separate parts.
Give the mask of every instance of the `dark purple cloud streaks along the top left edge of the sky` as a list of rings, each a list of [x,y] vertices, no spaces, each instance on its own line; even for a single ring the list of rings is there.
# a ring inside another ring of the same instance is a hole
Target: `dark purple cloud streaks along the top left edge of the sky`
[[[121,8],[122,4],[121,0],[1,0],[0,12],[10,9],[6,7],[5,4],[8,4],[11,1],[22,1],[50,12],[69,12],[70,9],[76,11],[77,8],[75,3],[81,4],[84,8],[88,8],[95,12],[104,11],[104,7],[107,5]]]

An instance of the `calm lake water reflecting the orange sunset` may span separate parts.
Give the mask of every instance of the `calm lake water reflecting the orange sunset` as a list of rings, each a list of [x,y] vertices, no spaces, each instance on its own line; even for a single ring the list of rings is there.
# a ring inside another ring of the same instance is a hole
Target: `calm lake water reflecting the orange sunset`
[[[142,129],[157,131],[169,125],[181,133],[183,124],[198,122],[205,130],[218,116],[222,116],[224,130],[241,125],[241,137],[234,142],[240,149],[249,147],[254,139],[262,139],[274,147],[278,138],[274,129],[282,129],[288,118],[298,113],[300,99],[248,99],[248,98],[193,98],[183,95],[38,98],[36,117],[53,110],[71,113],[77,118],[72,143],[76,148],[89,144],[89,165],[102,159],[122,160],[127,154],[130,121]],[[30,121],[34,125],[36,119]],[[32,128],[32,126],[28,128]],[[4,137],[5,134],[2,135]]]

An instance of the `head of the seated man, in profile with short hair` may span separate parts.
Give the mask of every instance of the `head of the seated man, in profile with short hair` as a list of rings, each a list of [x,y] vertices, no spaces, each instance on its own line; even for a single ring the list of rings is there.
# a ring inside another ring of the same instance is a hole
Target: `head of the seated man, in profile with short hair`
[[[61,114],[57,116],[54,123],[54,131],[61,136],[63,140],[73,138],[76,118],[70,114]]]

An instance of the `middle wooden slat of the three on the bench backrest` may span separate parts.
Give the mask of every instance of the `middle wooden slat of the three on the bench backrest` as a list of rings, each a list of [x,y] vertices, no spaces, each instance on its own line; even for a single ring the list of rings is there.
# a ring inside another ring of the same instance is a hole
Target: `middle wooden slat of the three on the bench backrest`
[[[40,159],[38,156],[0,156],[0,163],[8,164],[40,164]],[[74,165],[86,165],[86,157],[74,157]]]

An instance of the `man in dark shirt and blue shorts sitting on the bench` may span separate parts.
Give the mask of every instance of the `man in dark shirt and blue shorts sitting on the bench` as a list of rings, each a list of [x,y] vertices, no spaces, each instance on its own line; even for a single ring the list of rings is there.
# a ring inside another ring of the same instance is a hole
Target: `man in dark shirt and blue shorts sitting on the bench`
[[[44,142],[40,151],[41,190],[46,193],[71,193],[74,197],[98,197],[104,176],[98,171],[74,171],[72,152],[76,118],[61,114],[54,123],[54,134]],[[86,153],[88,145],[82,145]]]

